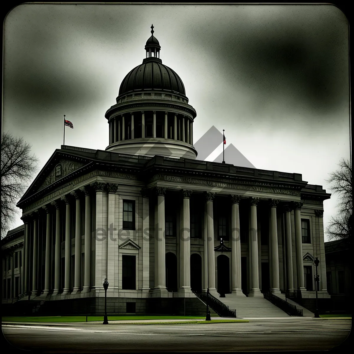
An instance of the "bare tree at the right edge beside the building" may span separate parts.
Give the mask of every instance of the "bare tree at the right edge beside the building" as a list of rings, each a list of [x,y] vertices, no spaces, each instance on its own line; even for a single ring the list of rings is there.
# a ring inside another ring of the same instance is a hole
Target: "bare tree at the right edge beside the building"
[[[327,227],[329,239],[348,239],[352,237],[353,222],[353,178],[352,164],[349,160],[342,159],[339,169],[330,173],[327,180],[331,184],[333,193],[339,195],[338,214],[332,217]]]

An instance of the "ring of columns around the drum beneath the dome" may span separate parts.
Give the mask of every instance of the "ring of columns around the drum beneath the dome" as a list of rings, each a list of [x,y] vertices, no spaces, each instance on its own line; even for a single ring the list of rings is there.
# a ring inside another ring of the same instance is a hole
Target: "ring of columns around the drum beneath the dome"
[[[164,113],[162,133],[156,134],[156,114]],[[152,115],[152,119],[148,116]],[[160,135],[160,136],[158,136]],[[193,145],[193,120],[187,115],[164,111],[137,111],[109,120],[109,144],[135,138],[164,138]]]

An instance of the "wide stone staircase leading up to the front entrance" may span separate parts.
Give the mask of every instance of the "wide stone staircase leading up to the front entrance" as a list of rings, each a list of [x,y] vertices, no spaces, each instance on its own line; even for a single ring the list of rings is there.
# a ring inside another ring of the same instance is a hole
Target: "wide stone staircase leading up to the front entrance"
[[[218,299],[230,309],[235,309],[237,318],[290,317],[263,297],[225,294],[225,297],[219,297]]]

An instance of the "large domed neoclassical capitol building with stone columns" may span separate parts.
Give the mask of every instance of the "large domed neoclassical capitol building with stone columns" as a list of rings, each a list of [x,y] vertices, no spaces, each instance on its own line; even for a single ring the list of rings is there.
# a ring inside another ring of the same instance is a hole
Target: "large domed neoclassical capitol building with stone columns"
[[[315,257],[329,298],[330,194],[299,173],[197,160],[196,111],[153,33],[105,113],[105,151],[62,145],[18,202],[24,234],[3,252],[3,302],[102,313],[107,279],[108,313],[203,312],[209,288],[238,317],[288,316],[264,295],[314,299]]]

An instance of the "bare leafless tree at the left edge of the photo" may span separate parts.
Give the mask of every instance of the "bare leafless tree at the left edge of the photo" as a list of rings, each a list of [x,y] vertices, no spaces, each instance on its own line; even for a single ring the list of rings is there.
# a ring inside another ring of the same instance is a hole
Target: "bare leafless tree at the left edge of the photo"
[[[38,158],[23,138],[3,133],[1,139],[1,238],[14,221],[15,203],[37,171]]]

